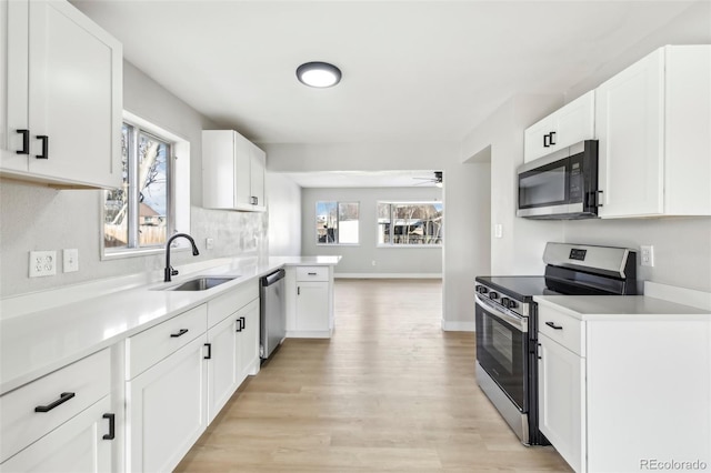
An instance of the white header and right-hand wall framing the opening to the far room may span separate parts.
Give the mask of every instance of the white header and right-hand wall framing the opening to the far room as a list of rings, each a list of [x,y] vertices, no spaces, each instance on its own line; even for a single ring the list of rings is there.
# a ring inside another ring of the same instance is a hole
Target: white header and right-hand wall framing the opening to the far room
[[[283,143],[262,144],[262,148],[267,151],[268,168],[272,172],[442,170],[445,214],[461,215],[461,223],[471,231],[465,241],[457,238],[450,241],[447,236],[449,223],[444,223],[442,326],[473,330],[474,275],[489,272],[491,264],[491,193],[489,185],[478,185],[479,173],[488,179],[488,164],[464,163],[460,143],[453,142]],[[449,177],[452,177],[451,181]]]

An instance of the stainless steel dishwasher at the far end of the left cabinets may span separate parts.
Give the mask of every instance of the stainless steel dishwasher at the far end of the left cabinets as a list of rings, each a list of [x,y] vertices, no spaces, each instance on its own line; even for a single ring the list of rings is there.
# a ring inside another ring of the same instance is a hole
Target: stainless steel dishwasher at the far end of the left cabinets
[[[284,270],[260,279],[260,345],[259,356],[267,360],[287,335]]]

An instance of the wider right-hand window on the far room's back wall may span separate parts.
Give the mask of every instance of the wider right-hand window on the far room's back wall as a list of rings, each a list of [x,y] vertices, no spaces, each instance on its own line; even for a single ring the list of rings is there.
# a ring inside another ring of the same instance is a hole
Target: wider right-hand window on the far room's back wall
[[[442,245],[441,202],[378,202],[378,245]]]

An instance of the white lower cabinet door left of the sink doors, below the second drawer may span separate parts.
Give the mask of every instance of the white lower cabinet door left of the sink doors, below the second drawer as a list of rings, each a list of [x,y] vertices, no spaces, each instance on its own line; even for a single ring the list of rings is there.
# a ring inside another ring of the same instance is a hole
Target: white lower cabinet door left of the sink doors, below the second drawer
[[[206,353],[198,338],[127,383],[131,471],[171,471],[206,430]]]

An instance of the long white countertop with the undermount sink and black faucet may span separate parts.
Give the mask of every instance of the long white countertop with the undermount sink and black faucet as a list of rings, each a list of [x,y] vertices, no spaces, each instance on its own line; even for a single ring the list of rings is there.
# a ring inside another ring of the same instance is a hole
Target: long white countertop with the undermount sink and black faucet
[[[341,256],[220,259],[178,266],[163,283],[150,275],[117,278],[17,298],[2,303],[0,394],[207,302],[284,265],[336,265]],[[198,269],[196,269],[198,268]],[[239,275],[206,291],[161,291],[200,275]],[[119,288],[110,290],[107,288]],[[51,296],[49,294],[51,293]],[[30,309],[28,309],[30,308]]]

